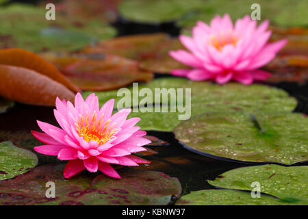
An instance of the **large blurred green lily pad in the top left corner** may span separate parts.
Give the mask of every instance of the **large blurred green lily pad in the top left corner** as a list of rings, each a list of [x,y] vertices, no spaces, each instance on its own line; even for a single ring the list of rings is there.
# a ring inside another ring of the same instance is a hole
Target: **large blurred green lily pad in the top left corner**
[[[46,10],[31,5],[0,7],[0,47],[20,47],[30,51],[74,51],[87,44],[111,38],[116,31],[101,21],[77,21],[56,14],[47,21]],[[61,38],[59,40],[59,37]]]

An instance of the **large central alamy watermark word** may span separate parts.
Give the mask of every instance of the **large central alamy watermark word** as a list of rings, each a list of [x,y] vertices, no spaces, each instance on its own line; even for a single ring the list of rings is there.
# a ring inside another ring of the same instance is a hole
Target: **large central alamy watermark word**
[[[177,112],[179,120],[188,120],[191,116],[191,88],[141,88],[133,83],[132,90],[120,88],[117,96],[117,110],[132,108],[132,112],[155,113]]]

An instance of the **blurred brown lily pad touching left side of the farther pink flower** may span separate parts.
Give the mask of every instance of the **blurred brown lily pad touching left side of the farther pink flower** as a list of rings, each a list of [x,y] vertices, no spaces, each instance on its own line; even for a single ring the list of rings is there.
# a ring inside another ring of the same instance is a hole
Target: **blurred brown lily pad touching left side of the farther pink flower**
[[[120,36],[86,47],[84,53],[110,53],[140,62],[140,68],[155,73],[170,73],[175,68],[187,68],[169,55],[169,51],[184,49],[177,38],[167,34]]]

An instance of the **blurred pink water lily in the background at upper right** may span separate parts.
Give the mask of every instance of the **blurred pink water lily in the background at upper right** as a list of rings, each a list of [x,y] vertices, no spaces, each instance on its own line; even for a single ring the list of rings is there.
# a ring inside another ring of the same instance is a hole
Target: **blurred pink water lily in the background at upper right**
[[[170,51],[170,55],[193,69],[175,69],[172,75],[188,77],[194,81],[212,79],[227,83],[231,79],[244,84],[264,80],[270,73],[258,70],[270,62],[287,40],[268,43],[269,22],[257,27],[247,15],[233,26],[229,14],[216,16],[210,25],[198,21],[192,29],[192,38],[181,35],[179,40],[191,52]]]

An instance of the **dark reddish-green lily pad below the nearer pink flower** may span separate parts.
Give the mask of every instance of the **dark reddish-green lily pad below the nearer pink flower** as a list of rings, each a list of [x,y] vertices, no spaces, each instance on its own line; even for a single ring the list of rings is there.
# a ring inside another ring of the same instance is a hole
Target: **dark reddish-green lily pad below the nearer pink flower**
[[[122,179],[82,174],[65,180],[63,170],[64,164],[38,166],[2,181],[1,205],[167,205],[181,194],[179,181],[162,172],[121,169]],[[48,181],[55,183],[55,198],[45,196]]]

